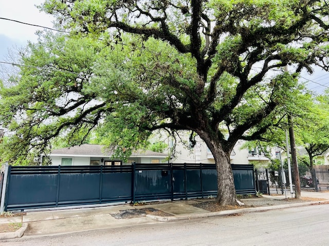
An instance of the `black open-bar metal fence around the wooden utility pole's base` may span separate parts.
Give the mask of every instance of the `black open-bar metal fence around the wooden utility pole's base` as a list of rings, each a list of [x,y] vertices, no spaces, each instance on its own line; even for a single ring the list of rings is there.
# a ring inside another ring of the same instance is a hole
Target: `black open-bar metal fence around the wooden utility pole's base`
[[[302,191],[321,192],[329,190],[329,169],[328,166],[316,166],[313,170],[316,182],[313,181],[312,173],[306,171],[300,175],[300,187]],[[294,170],[291,171],[291,183],[295,189]],[[263,194],[284,194],[289,189],[288,170],[273,171],[265,168],[255,169],[255,188]],[[295,192],[295,191],[294,191]]]

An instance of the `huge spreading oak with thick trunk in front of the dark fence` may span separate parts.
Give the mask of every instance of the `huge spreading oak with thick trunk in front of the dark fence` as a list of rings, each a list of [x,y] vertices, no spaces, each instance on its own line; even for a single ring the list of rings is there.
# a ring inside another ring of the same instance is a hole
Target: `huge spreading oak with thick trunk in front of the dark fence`
[[[278,124],[303,68],[328,69],[326,1],[47,0],[41,8],[72,34],[35,45],[24,62],[42,69],[22,69],[2,93],[13,143],[42,149],[56,135],[97,127],[129,155],[154,130],[186,130],[214,156],[223,205],[236,203],[236,141]],[[39,49],[43,65],[33,58]]]

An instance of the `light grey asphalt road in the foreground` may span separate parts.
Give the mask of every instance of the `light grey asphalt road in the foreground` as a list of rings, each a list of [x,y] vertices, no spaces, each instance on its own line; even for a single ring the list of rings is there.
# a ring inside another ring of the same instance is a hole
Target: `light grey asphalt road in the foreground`
[[[17,245],[329,245],[329,204],[0,241]]]

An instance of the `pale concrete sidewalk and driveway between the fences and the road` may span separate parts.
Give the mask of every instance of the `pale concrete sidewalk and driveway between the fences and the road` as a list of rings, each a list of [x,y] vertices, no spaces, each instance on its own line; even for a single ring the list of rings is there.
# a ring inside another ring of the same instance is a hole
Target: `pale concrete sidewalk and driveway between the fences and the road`
[[[290,196],[290,194],[289,194]],[[289,197],[287,195],[287,197]],[[318,198],[323,201],[329,201],[329,192],[302,192],[302,197]],[[285,195],[263,196],[263,198],[254,199],[284,199]],[[244,199],[242,199],[243,201]],[[140,224],[161,223],[163,221],[184,220],[191,218],[203,218],[211,216],[220,216],[236,213],[247,213],[255,211],[265,211],[271,209],[282,209],[296,206],[305,206],[312,202],[299,202],[290,204],[281,204],[276,206],[241,208],[236,210],[225,210],[220,212],[209,212],[192,206],[195,200],[184,200],[165,202],[159,204],[147,204],[144,206],[132,207],[129,204],[106,206],[98,208],[80,208],[80,209],[62,209],[48,210],[38,212],[27,212],[20,217],[0,218],[0,223],[22,222],[22,228],[13,233],[0,233],[0,239],[9,239],[15,237],[35,236],[35,235],[56,235],[72,232],[81,232],[97,229],[120,228]],[[111,214],[119,213],[122,210],[153,208],[172,216],[154,216],[146,215],[144,217],[134,217],[127,219],[116,219]]]

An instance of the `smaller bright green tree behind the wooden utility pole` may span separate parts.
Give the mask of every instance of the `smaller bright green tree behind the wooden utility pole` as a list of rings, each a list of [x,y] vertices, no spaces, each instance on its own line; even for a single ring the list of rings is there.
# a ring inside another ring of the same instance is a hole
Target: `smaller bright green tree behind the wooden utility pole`
[[[264,149],[267,146],[279,147],[286,151],[285,132],[289,127],[287,116],[293,116],[291,118],[293,118],[296,146],[307,153],[307,155],[298,156],[299,162],[302,163],[301,175],[305,175],[307,167],[306,169],[312,174],[312,179],[316,180],[313,172],[315,157],[322,156],[329,149],[328,106],[328,91],[321,96],[316,96],[309,91],[291,94],[290,100],[286,103],[286,111],[283,111],[284,120],[281,120],[276,128],[268,128],[259,140],[248,142],[247,145],[259,145]]]

